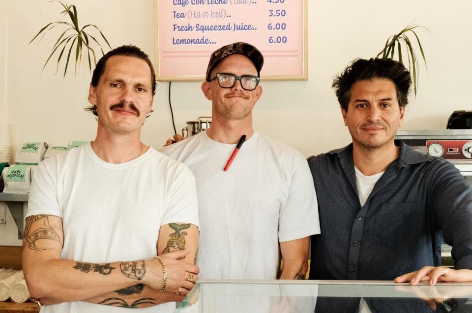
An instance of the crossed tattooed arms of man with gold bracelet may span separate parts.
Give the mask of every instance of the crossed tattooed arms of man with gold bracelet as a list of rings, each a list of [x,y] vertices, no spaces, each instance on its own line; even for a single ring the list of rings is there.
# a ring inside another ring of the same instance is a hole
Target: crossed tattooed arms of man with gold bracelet
[[[184,231],[183,231],[184,230]],[[41,304],[87,301],[128,308],[145,308],[181,301],[198,280],[195,263],[198,228],[192,224],[161,226],[157,254],[167,268],[167,284],[156,259],[88,263],[60,258],[62,219],[33,215],[26,219],[23,270],[33,298]],[[189,275],[194,277],[188,280]],[[177,294],[179,287],[183,290]]]

